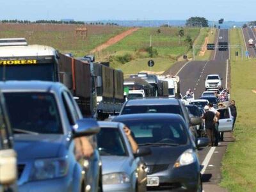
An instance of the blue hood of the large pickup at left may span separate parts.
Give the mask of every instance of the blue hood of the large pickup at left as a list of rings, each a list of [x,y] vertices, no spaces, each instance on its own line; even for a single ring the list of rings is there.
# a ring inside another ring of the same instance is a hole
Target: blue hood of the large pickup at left
[[[18,161],[58,157],[61,147],[65,147],[67,136],[63,134],[15,134],[14,149]]]

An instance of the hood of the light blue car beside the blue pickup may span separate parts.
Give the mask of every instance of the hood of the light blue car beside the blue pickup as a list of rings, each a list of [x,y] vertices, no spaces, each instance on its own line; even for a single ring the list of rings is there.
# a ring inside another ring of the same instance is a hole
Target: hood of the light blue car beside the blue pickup
[[[132,158],[129,156],[101,156],[101,161],[103,175],[116,172],[129,173],[132,165]]]

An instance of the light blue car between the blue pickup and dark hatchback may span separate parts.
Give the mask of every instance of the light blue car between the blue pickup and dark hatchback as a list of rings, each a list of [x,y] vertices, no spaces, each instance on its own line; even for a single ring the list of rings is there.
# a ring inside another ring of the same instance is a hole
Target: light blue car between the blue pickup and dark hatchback
[[[102,159],[103,191],[147,191],[147,173],[140,157],[149,155],[150,149],[133,154],[124,124],[99,122],[99,125],[97,143]]]

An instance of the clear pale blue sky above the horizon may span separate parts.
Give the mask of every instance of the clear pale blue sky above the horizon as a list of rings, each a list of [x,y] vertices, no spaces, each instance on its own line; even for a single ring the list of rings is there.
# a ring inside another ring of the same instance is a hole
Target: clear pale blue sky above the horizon
[[[2,2],[1,2],[2,1]],[[256,20],[255,0],[0,0],[0,20]],[[252,9],[252,10],[251,10]]]

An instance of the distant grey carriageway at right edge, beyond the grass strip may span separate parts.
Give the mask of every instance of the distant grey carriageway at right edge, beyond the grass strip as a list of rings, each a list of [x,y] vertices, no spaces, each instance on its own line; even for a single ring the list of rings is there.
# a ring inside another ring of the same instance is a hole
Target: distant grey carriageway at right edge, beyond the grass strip
[[[246,49],[249,52],[249,57],[250,58],[255,58],[256,57],[256,51],[255,48],[249,47],[248,40],[250,38],[253,39],[254,44],[256,44],[256,36],[255,36],[255,31],[252,28],[243,28],[243,35],[244,35],[244,43],[246,44]]]

